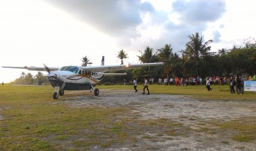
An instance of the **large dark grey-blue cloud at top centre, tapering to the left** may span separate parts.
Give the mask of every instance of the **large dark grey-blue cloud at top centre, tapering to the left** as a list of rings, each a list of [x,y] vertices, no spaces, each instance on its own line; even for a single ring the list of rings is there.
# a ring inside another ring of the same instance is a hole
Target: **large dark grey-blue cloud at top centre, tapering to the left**
[[[134,31],[142,22],[141,14],[154,11],[150,3],[137,0],[48,0],[48,2],[67,10],[76,18],[96,27],[97,30],[113,36]]]

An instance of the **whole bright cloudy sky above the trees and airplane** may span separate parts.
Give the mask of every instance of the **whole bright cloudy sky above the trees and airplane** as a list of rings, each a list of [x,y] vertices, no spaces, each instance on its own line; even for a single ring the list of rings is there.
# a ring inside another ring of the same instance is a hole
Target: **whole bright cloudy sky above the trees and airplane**
[[[98,66],[118,65],[118,51],[126,63],[139,63],[146,47],[171,44],[184,50],[196,32],[211,51],[255,38],[254,0],[1,0],[0,82],[9,83],[26,69],[2,66],[61,67],[81,65],[87,56]],[[43,72],[43,74],[47,74]]]

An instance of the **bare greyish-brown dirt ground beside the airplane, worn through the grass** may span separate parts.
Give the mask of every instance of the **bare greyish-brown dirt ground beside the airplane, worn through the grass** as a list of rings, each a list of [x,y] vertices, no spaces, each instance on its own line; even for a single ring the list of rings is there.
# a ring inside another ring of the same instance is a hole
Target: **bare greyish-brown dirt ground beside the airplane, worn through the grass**
[[[131,146],[104,148],[104,150],[255,150],[254,142],[237,142],[231,139],[228,132],[207,133],[197,131],[199,123],[208,121],[231,121],[243,117],[255,117],[254,101],[200,101],[191,96],[180,95],[142,95],[141,91],[100,90],[99,96],[89,94],[75,96],[72,100],[65,98],[62,103],[71,107],[121,107],[132,106],[141,119],[168,118],[188,126],[192,131],[188,135],[172,136],[172,139],[154,141],[142,139]],[[195,131],[193,131],[195,130]],[[134,134],[135,135],[135,134]],[[148,133],[148,135],[155,135]],[[99,146],[91,148],[102,149]]]

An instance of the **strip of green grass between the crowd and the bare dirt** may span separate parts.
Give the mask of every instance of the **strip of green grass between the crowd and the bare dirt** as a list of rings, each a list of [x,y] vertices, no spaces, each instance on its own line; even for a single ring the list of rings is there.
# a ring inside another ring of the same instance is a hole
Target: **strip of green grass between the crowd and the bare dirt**
[[[99,85],[99,89],[133,90],[133,85]],[[245,91],[244,95],[230,94],[228,85],[211,85],[213,91],[208,91],[205,85],[200,86],[165,86],[149,85],[152,94],[191,95],[203,100],[255,100],[256,92]],[[143,85],[138,85],[138,90],[143,90]]]

